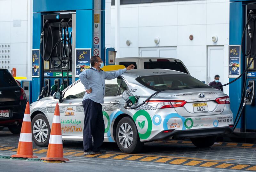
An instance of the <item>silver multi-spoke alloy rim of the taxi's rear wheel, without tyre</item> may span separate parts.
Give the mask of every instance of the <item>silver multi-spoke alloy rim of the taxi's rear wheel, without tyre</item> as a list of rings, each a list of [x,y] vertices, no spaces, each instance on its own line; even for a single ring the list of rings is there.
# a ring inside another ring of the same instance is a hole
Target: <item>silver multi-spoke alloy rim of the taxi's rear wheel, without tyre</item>
[[[120,144],[124,148],[128,148],[132,145],[133,131],[132,127],[128,123],[123,123],[118,131],[118,139]]]

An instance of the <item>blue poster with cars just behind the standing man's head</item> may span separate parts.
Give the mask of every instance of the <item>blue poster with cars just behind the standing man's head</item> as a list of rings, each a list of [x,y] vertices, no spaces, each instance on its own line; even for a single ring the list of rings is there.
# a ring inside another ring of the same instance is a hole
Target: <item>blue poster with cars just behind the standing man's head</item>
[[[90,69],[91,49],[76,49],[76,77],[83,71]]]

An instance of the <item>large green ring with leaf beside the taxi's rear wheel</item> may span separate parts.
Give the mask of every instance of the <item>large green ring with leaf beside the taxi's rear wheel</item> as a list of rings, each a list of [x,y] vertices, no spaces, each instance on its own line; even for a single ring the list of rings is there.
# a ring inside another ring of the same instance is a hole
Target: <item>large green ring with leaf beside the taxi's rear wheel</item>
[[[147,139],[147,138],[151,135],[151,131],[152,131],[152,120],[151,120],[151,117],[150,117],[150,115],[148,114],[148,112],[145,111],[145,110],[139,110],[138,112],[136,112],[136,113],[133,115],[132,119],[136,122],[136,119],[137,119],[140,115],[146,117],[146,119],[147,119],[147,121],[148,121],[148,129],[147,129],[146,133],[144,133],[144,134],[141,134],[141,133],[138,131],[138,132],[139,132],[139,136],[140,136],[141,139]],[[138,124],[139,124],[139,127],[142,129],[142,128],[144,127],[144,125],[145,125],[145,121],[142,121],[142,122],[140,122],[140,123],[139,123],[139,121],[138,121]]]

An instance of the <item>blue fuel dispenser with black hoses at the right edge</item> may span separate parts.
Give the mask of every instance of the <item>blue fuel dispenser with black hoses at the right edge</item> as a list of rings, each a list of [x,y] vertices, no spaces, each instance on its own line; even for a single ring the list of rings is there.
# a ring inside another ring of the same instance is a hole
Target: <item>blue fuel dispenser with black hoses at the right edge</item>
[[[229,85],[234,135],[253,138],[256,134],[256,1],[230,2],[230,46],[241,45],[241,71],[245,75]],[[251,63],[252,62],[252,63]],[[251,63],[251,65],[250,65]],[[229,81],[234,79],[230,78]],[[237,113],[236,113],[237,112]]]

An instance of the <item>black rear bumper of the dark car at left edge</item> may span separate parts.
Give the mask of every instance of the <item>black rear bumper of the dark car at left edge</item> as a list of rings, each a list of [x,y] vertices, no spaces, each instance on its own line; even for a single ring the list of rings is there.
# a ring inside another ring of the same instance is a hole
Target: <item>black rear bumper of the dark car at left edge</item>
[[[0,110],[9,110],[9,117],[0,118],[0,126],[7,126],[17,122],[22,122],[26,104],[27,100],[21,100],[20,105],[0,106]]]

